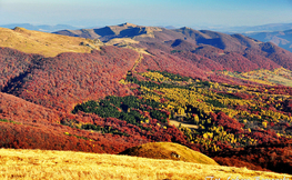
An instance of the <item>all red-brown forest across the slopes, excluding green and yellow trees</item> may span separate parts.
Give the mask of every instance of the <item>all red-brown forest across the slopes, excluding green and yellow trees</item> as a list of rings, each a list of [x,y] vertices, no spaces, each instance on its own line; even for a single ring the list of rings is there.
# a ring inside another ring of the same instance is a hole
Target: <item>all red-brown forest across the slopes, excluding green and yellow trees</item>
[[[258,68],[274,69],[280,66],[292,70],[291,52],[271,43],[255,43],[239,34],[228,36],[188,28],[178,31],[163,30],[154,34],[158,39],[149,37],[137,39],[143,41],[137,46],[147,48],[151,53],[143,54],[134,69],[138,72],[151,69],[194,79],[246,84],[250,82],[210,71],[226,69],[242,72]],[[91,53],[62,53],[54,58],[0,48],[0,89],[2,92],[11,93],[0,93],[0,119],[14,121],[14,123],[0,122],[0,147],[118,153],[145,142],[172,141],[194,150],[200,149],[199,146],[189,143],[175,127],[164,124],[163,128],[150,117],[149,123],[133,126],[115,118],[103,119],[95,114],[69,113],[77,103],[87,100],[98,100],[111,94],[132,94],[130,86],[120,84],[118,81],[125,78],[138,59],[138,52],[117,47],[103,47],[100,51],[94,50]],[[252,84],[254,83],[250,83]],[[266,90],[273,94],[292,94],[292,89],[286,87],[258,87],[259,92]],[[253,98],[245,93],[234,96],[243,99]],[[290,113],[291,107],[289,100],[281,103],[281,110],[286,114]],[[234,108],[252,111],[244,106]],[[224,127],[228,132],[250,137],[260,143],[259,147],[231,149],[219,142],[217,146],[223,151],[210,156],[220,163],[289,173],[292,168],[291,142],[286,142],[286,139],[278,137],[271,130],[243,131],[242,123],[223,112],[211,114],[211,119],[217,126]],[[90,123],[101,128],[111,127],[128,137],[60,124],[67,121],[78,126]],[[284,127],[291,128],[290,124]],[[282,141],[279,142],[280,140]]]

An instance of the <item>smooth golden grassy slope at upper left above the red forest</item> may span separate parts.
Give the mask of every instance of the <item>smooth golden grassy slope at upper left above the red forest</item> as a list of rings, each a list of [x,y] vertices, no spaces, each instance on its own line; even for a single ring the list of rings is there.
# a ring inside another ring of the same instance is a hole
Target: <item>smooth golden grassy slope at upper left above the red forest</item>
[[[13,30],[0,28],[0,47],[17,49],[26,53],[56,57],[61,52],[90,52],[98,48],[93,40],[30,31],[23,28]]]

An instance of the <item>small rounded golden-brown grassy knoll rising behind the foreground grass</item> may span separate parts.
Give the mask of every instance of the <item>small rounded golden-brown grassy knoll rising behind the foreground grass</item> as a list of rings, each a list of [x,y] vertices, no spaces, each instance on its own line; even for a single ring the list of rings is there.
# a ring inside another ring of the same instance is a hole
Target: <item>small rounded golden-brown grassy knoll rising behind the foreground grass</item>
[[[218,166],[213,159],[207,157],[205,154],[172,142],[144,143],[130,148],[122,152],[122,154]]]

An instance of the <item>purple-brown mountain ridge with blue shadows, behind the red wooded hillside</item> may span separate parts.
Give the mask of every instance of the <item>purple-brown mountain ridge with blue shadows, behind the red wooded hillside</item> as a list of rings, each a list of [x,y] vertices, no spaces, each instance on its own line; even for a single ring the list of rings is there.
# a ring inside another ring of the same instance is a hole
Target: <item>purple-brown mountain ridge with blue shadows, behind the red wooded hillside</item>
[[[249,71],[259,68],[274,69],[280,66],[290,70],[292,68],[291,52],[273,43],[242,34],[230,36],[208,30],[198,31],[187,27],[169,30],[131,23],[100,29],[63,30],[53,33],[98,38],[114,46],[131,44],[134,48],[148,49],[150,53],[159,49],[168,54],[192,60],[193,64],[200,67],[198,72],[202,69],[207,71]],[[117,39],[120,41],[117,42]]]

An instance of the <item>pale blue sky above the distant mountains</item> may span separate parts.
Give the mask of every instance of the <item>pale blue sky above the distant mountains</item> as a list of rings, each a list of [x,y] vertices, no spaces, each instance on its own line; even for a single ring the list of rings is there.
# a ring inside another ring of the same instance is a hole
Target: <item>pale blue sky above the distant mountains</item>
[[[258,26],[292,23],[292,0],[0,0],[0,24]]]

